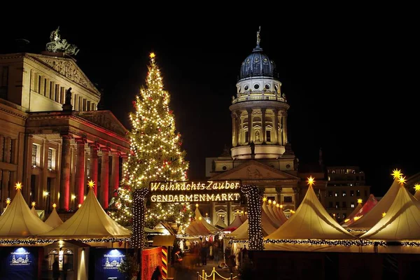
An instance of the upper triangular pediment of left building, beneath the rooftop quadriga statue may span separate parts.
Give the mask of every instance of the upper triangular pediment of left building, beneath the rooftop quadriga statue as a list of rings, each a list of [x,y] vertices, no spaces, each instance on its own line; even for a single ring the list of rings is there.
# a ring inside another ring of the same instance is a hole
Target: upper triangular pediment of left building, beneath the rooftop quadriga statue
[[[85,89],[101,96],[99,90],[90,82],[89,78],[83,73],[73,59],[68,57],[54,57],[50,55],[36,55],[28,53],[29,57],[41,62],[50,69],[56,71],[59,75],[68,78],[72,82],[84,87]]]

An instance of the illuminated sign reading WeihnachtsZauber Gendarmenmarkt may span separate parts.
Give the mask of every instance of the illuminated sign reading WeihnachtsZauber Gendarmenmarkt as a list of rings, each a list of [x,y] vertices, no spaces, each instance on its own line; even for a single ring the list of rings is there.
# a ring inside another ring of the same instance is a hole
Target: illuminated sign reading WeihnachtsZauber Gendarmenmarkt
[[[238,202],[241,181],[151,182],[151,202]]]

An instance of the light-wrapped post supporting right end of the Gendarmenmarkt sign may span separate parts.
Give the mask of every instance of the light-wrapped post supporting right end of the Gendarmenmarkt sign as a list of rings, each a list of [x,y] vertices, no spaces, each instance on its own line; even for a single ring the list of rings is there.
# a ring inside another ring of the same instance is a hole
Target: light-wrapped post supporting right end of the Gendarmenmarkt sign
[[[262,195],[256,186],[242,186],[248,204],[248,241],[251,250],[263,250],[261,229]]]

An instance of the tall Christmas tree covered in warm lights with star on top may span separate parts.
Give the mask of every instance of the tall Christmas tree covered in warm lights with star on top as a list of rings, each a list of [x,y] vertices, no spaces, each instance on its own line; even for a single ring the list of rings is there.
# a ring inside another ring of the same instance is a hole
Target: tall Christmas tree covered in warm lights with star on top
[[[169,109],[169,93],[163,90],[162,77],[150,55],[146,87],[133,102],[136,113],[130,114],[132,130],[130,155],[123,165],[123,179],[118,195],[111,201],[116,211],[111,217],[122,225],[132,224],[132,192],[148,188],[151,181],[186,181],[188,162],[181,151],[181,134],[175,132],[175,120]],[[188,204],[151,204],[146,212],[146,226],[159,221],[186,225],[193,216]]]

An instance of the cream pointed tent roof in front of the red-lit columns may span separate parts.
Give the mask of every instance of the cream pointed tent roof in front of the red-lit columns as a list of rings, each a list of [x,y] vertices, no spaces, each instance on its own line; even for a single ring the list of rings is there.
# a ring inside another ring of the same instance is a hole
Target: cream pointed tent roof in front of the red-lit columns
[[[129,237],[131,231],[108,216],[90,188],[86,200],[69,220],[44,233],[43,237],[106,238]]]

